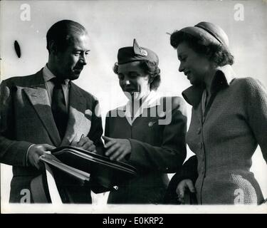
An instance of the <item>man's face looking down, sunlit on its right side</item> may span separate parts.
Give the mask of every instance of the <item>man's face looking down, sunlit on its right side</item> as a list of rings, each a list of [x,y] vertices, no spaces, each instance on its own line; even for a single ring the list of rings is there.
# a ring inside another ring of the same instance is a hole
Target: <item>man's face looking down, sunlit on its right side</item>
[[[54,54],[53,67],[56,76],[70,80],[79,78],[83,66],[87,64],[89,51],[88,35],[73,34],[67,48]]]

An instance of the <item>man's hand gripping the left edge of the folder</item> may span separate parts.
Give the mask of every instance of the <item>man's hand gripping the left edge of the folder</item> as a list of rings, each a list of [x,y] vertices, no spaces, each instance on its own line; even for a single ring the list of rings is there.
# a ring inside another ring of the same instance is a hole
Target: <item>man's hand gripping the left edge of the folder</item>
[[[28,162],[34,167],[36,167],[38,170],[43,167],[43,163],[40,162],[39,157],[41,155],[45,155],[46,157],[53,157],[53,159],[56,160],[56,157],[53,155],[48,154],[48,151],[51,151],[55,149],[53,145],[49,144],[36,144],[32,145],[30,149],[28,150]]]

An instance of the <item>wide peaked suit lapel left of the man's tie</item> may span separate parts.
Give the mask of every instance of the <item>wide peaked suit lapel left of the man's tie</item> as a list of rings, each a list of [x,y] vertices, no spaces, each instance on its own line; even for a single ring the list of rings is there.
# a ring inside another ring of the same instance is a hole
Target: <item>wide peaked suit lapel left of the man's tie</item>
[[[23,90],[28,96],[28,99],[31,101],[31,104],[41,119],[43,126],[48,131],[51,140],[56,146],[58,146],[61,143],[61,138],[58,134],[58,129],[56,128],[56,123],[53,119],[51,104],[41,71],[36,73],[35,78],[36,81],[32,81],[31,86],[23,88]]]

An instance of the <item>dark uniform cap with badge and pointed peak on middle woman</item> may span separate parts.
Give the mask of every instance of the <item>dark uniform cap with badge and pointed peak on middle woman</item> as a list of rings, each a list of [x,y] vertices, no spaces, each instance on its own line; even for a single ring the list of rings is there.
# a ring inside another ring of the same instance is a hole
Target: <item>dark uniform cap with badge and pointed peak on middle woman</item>
[[[135,61],[151,61],[159,64],[159,57],[154,51],[151,51],[148,48],[140,47],[134,39],[132,47],[120,48],[117,51],[117,63],[130,63]]]

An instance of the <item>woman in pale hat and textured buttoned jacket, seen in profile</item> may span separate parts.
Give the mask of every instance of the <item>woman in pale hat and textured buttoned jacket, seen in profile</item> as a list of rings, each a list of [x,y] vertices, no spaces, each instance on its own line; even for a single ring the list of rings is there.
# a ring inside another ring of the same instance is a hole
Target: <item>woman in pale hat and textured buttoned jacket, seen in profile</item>
[[[199,204],[260,204],[263,195],[250,172],[257,145],[267,161],[267,93],[253,78],[236,78],[226,33],[208,22],[174,31],[179,71],[192,84],[186,136],[196,154],[174,179],[180,200],[196,191]],[[178,177],[177,177],[178,176]]]

